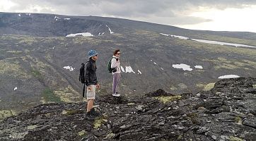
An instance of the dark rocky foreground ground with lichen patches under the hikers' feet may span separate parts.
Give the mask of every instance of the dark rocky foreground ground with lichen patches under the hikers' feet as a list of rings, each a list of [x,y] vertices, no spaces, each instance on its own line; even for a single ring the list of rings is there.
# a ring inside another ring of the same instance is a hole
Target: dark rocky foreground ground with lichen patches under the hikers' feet
[[[97,97],[42,104],[1,121],[0,140],[256,140],[256,79],[216,82],[210,91],[143,97]]]

